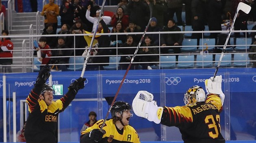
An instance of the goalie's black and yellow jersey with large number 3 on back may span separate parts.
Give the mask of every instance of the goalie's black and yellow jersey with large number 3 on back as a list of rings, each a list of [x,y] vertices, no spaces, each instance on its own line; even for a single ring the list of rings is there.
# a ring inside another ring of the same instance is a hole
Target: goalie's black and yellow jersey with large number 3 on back
[[[221,135],[221,99],[210,94],[196,105],[164,107],[161,124],[180,129],[184,143],[225,143]]]

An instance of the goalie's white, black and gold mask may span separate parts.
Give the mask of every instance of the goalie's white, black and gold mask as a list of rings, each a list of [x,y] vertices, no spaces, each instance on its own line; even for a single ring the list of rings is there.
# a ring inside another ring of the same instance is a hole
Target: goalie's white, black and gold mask
[[[184,94],[185,105],[195,105],[197,102],[205,101],[204,89],[200,86],[192,86]]]

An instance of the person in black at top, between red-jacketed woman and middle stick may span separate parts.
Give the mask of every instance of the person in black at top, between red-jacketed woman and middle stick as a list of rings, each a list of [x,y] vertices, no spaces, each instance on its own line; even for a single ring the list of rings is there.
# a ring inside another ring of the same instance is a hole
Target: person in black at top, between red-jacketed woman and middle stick
[[[129,21],[136,21],[136,24],[144,31],[150,19],[148,4],[144,0],[130,0],[127,8],[131,11]]]

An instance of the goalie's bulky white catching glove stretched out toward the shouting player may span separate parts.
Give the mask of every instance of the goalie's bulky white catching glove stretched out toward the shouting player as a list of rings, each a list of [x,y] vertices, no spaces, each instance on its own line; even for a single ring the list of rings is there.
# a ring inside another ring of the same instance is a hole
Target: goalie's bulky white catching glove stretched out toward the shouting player
[[[154,96],[148,91],[139,91],[132,101],[132,109],[137,116],[159,124],[163,107],[158,107],[153,99]]]

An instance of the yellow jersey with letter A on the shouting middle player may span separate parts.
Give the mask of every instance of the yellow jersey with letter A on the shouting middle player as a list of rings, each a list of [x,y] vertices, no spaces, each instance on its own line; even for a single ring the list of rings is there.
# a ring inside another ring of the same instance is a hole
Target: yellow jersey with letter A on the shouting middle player
[[[104,120],[99,120],[90,128],[87,128],[85,131],[81,133],[80,143],[94,143],[89,138],[89,132],[95,128],[100,129]],[[106,131],[106,134],[103,135],[102,140],[98,143],[140,143],[139,135],[136,130],[128,125],[124,126],[123,133],[119,133],[119,129],[113,124],[113,120],[106,120],[104,127],[102,130]],[[84,137],[82,137],[84,136]]]

